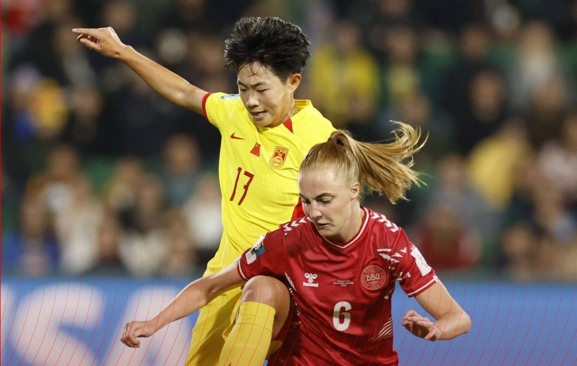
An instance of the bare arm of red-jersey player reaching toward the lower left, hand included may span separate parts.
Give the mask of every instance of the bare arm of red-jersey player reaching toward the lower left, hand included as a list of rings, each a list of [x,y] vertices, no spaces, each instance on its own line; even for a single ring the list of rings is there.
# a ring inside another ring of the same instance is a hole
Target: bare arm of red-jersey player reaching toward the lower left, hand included
[[[237,261],[213,276],[190,282],[154,318],[126,323],[120,338],[122,343],[129,347],[140,347],[137,338],[150,337],[168,323],[197,311],[221,293],[245,284],[246,281],[238,275]]]

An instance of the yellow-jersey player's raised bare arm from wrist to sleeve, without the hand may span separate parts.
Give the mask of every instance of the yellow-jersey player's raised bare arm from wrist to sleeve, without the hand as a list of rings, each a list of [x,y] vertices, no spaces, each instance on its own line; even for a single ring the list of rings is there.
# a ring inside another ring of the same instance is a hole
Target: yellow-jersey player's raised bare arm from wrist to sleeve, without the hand
[[[204,96],[204,90],[138,53],[131,46],[123,47],[117,58],[134,70],[152,89],[167,100],[182,108],[202,113],[199,100]]]

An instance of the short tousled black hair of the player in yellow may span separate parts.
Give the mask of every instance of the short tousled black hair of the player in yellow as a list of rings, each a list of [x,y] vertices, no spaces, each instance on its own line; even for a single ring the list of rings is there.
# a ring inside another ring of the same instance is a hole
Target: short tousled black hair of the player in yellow
[[[298,25],[278,17],[241,18],[224,41],[226,66],[238,71],[257,61],[281,80],[302,73],[310,56],[310,42]]]

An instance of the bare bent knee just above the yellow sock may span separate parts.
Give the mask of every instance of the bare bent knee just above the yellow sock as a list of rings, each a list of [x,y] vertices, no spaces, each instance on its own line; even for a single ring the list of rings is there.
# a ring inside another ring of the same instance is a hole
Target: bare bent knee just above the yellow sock
[[[288,299],[288,290],[282,282],[273,277],[253,277],[246,282],[242,290],[243,303],[254,301],[276,308],[283,299]]]

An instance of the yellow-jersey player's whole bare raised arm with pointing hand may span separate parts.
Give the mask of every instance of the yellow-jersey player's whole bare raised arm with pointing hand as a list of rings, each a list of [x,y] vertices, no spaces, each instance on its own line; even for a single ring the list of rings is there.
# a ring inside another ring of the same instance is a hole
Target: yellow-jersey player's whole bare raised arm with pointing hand
[[[177,74],[123,44],[113,28],[74,28],[77,40],[103,56],[126,63],[152,89],[182,108],[203,114],[203,97],[207,93]]]

